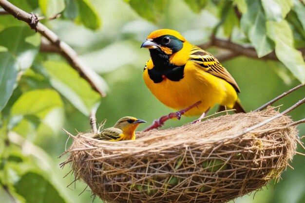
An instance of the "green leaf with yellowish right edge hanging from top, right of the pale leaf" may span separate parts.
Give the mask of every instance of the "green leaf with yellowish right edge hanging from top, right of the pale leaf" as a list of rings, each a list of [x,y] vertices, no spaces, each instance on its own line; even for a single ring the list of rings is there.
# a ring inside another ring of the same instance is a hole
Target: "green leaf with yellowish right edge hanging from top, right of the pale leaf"
[[[87,28],[96,30],[101,26],[101,20],[95,10],[95,7],[89,0],[77,0],[79,21]]]

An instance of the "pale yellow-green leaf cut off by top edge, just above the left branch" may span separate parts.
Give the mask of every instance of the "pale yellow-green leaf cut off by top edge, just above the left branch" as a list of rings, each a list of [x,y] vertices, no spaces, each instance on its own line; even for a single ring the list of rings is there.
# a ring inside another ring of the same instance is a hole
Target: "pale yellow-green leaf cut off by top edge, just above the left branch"
[[[38,4],[46,18],[53,17],[65,9],[64,0],[39,0]]]

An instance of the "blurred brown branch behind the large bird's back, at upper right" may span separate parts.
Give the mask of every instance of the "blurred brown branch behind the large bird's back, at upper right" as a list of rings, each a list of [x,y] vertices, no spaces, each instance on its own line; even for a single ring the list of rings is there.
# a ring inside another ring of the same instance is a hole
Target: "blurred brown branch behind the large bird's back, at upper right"
[[[237,56],[237,55],[245,55],[250,58],[259,58],[258,55],[256,54],[256,51],[253,47],[246,47],[237,43],[234,43],[229,40],[224,40],[224,39],[219,39],[216,37],[211,37],[211,40],[205,44],[199,45],[200,48],[202,49],[207,49],[211,46],[227,49],[232,52],[231,55]],[[302,55],[305,55],[305,47],[298,49]],[[226,57],[226,59],[229,59],[230,57]],[[272,59],[272,60],[278,60],[277,56],[275,55],[275,52],[271,52],[270,54],[267,54],[263,57],[262,59]],[[218,58],[219,59],[219,58]],[[219,59],[220,60],[220,59]]]

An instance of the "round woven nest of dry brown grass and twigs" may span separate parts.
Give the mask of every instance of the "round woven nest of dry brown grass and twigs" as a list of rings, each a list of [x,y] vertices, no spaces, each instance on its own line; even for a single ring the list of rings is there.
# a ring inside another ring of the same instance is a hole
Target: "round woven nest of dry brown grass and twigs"
[[[76,180],[109,203],[226,203],[278,179],[296,153],[288,116],[236,135],[278,112],[239,113],[179,128],[138,132],[135,141],[73,136]]]

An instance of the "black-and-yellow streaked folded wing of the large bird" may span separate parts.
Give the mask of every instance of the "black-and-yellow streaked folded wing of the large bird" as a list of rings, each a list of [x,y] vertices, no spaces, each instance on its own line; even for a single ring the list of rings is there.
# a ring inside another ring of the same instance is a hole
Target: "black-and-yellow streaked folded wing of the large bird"
[[[240,89],[235,82],[234,78],[231,74],[225,69],[209,52],[202,50],[199,47],[193,46],[190,52],[190,60],[194,61],[194,63],[199,64],[204,71],[220,77],[227,82],[229,82],[236,92],[240,92]]]

